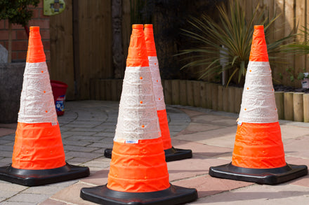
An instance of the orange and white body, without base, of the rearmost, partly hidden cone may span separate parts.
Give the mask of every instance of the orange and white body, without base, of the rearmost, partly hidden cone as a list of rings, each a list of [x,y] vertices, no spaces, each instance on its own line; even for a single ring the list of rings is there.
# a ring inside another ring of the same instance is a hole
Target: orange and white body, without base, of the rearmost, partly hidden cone
[[[152,76],[152,85],[155,94],[155,101],[157,104],[157,114],[162,134],[163,148],[164,150],[167,150],[172,147],[171,135],[169,132],[169,124],[166,115],[166,106],[164,102],[161,76],[159,73],[159,62],[157,59],[157,51],[155,47],[155,39],[152,24],[145,24],[144,34],[147,47],[147,55],[149,59],[150,72]]]

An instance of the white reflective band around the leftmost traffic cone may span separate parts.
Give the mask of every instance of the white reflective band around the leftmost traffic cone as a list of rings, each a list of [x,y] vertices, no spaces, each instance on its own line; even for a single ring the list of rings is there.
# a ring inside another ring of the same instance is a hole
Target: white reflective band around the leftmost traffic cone
[[[26,63],[18,122],[58,122],[46,62]]]

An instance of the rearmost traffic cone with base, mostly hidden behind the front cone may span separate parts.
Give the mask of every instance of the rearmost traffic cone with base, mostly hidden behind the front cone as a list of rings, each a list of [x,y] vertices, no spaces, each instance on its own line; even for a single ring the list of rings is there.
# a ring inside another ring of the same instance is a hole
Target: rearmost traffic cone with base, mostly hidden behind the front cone
[[[147,55],[149,59],[150,73],[152,77],[153,91],[155,94],[155,102],[157,105],[157,115],[162,134],[163,148],[166,162],[183,160],[192,157],[192,150],[184,150],[174,148],[171,145],[171,135],[169,132],[169,124],[167,121],[166,107],[164,102],[164,94],[159,72],[159,63],[157,59],[157,51],[155,47],[155,38],[153,34],[152,24],[145,24],[144,35],[146,41]],[[112,157],[112,149],[106,149],[105,157]]]

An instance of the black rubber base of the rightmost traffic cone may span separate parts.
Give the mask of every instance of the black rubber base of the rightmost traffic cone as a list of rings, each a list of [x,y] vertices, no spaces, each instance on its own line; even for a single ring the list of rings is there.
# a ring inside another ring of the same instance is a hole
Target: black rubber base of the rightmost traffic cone
[[[306,174],[308,174],[307,166],[293,164],[287,164],[284,167],[273,169],[242,168],[236,167],[232,163],[209,168],[209,175],[213,177],[268,185],[284,183],[305,176]]]

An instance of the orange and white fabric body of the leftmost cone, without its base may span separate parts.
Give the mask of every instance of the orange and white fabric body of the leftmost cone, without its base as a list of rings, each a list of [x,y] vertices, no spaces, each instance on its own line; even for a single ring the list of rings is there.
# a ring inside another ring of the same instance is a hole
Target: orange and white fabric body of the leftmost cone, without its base
[[[30,27],[12,167],[54,169],[65,164],[39,27]]]

